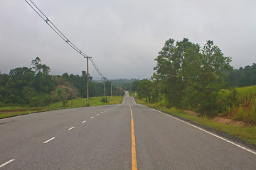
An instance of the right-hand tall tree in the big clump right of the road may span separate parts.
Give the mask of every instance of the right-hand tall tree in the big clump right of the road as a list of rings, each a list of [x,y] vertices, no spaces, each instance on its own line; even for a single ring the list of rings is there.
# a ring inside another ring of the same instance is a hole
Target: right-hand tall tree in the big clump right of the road
[[[220,48],[208,40],[202,50],[201,88],[202,101],[200,110],[208,115],[218,113],[217,100],[220,90],[225,86],[225,75],[222,69],[231,71],[231,58],[224,57]]]

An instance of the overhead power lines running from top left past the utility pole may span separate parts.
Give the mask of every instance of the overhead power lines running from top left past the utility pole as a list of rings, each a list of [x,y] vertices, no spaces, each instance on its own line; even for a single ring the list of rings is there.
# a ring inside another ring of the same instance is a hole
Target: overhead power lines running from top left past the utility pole
[[[72,47],[76,52],[78,52],[83,57],[89,57],[89,56],[85,55],[85,53],[83,53],[72,42],[70,42],[70,40],[68,40],[68,38],[65,37],[65,35],[63,33],[60,32],[60,30],[50,21],[50,19],[38,8],[38,6],[36,6],[36,4],[32,0],[28,0],[28,1],[25,0],[25,1],[29,6],[31,6],[31,8],[33,8],[33,11],[35,11],[38,14],[38,16],[40,16],[43,19],[43,21],[45,21],[48,24],[48,26],[50,26],[50,28],[52,28],[54,30],[54,32],[60,36],[60,38],[62,38],[65,42],[67,42],[68,45],[70,45],[70,47]],[[95,62],[92,60],[92,58],[90,58],[90,61],[92,62],[93,67],[95,67],[95,69],[100,74],[100,76],[103,79],[106,79],[106,77],[104,77],[102,75],[102,73],[100,72],[100,70],[97,68],[97,66],[96,66]]]

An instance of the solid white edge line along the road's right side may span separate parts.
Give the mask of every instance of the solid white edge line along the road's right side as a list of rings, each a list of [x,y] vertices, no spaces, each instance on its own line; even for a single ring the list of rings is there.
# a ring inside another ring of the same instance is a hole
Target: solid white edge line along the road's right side
[[[146,106],[146,107],[147,107],[147,106]],[[149,107],[147,107],[147,108],[149,108]],[[154,108],[151,108],[151,109],[154,110],[154,111],[157,111],[157,110],[154,109]],[[157,111],[157,112],[162,113],[162,114],[164,114],[164,115],[168,115],[168,114],[166,114],[166,113],[164,113],[164,112],[161,112],[161,111]],[[218,136],[218,135],[215,135],[215,134],[213,134],[212,132],[208,132],[207,130],[204,130],[204,129],[199,128],[199,127],[197,127],[197,126],[195,126],[195,125],[192,125],[191,123],[187,123],[187,122],[185,122],[185,121],[183,121],[183,120],[181,120],[181,119],[175,118],[175,117],[172,116],[172,115],[168,115],[168,116],[171,117],[171,118],[174,118],[174,119],[176,119],[176,120],[178,120],[178,121],[181,121],[182,123],[186,123],[187,125],[191,125],[193,128],[197,128],[198,130],[202,130],[203,132],[206,132],[206,133],[208,133],[208,134],[210,134],[210,135],[213,135],[214,137],[218,137],[220,140],[224,140],[225,142],[228,142],[228,143],[230,143],[230,144],[232,144],[232,145],[235,145],[236,147],[240,147],[241,149],[244,149],[244,150],[246,150],[247,152],[251,152],[252,154],[256,154],[256,152],[252,151],[251,149],[247,149],[246,147],[242,147],[241,145],[238,145],[238,144],[236,144],[235,142],[231,142],[230,140],[226,140],[225,138],[220,137],[220,136]]]

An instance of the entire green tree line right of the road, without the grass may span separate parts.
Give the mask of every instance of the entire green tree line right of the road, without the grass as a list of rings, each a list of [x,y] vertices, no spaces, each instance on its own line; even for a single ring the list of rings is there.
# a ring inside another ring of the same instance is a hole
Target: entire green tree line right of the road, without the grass
[[[155,59],[151,79],[134,81],[132,91],[148,102],[213,116],[223,111],[222,89],[256,84],[256,64],[233,69],[231,58],[208,40],[203,48],[190,42],[166,40]],[[232,103],[232,101],[230,101]]]

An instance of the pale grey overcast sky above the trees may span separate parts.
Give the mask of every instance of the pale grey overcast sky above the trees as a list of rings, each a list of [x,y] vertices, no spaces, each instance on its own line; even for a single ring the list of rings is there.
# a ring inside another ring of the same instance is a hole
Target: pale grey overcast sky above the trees
[[[169,38],[207,40],[238,69],[256,63],[255,0],[33,0],[107,79],[149,79]],[[52,75],[81,75],[86,60],[24,0],[0,6],[0,71],[32,67],[41,58]],[[93,79],[100,74],[89,63]]]

